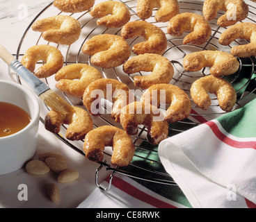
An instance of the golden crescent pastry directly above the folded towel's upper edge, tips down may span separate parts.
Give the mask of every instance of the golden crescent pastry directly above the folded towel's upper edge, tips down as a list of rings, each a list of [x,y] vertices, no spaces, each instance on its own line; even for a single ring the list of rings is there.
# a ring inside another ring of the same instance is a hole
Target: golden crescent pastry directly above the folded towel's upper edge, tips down
[[[237,101],[234,87],[223,78],[209,75],[195,80],[191,85],[191,98],[202,110],[207,110],[211,105],[208,93],[216,94],[218,105],[226,112],[231,111]]]

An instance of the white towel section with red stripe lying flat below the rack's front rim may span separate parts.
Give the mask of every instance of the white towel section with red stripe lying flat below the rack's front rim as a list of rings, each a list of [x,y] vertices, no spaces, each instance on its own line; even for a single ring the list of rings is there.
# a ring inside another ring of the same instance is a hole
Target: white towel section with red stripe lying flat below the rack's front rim
[[[147,186],[144,186],[132,178],[117,173],[113,178],[109,191],[102,191],[99,188],[95,189],[77,208],[153,209],[191,207],[183,194],[180,195],[182,197],[180,200],[172,200],[171,198],[162,196],[161,193],[157,194],[157,192],[152,190],[152,187],[156,185],[152,182],[150,184],[147,183]],[[108,187],[109,178],[106,178],[106,180],[101,183],[101,186]],[[175,194],[175,192],[172,191],[170,186],[167,188],[170,194],[179,196],[179,194]]]

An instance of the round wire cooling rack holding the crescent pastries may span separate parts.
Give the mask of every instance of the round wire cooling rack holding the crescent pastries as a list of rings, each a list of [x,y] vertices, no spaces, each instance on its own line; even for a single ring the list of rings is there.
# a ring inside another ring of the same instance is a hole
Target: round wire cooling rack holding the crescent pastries
[[[122,3],[125,3],[125,5],[129,8],[131,12],[131,20],[140,20],[140,18],[136,15],[136,1],[135,0],[119,0]],[[97,1],[95,1],[95,4]],[[248,18],[243,20],[243,22],[255,22],[256,14],[256,8],[255,6],[249,5],[249,15]],[[156,9],[157,10],[157,9]],[[153,11],[152,17],[147,19],[147,22],[150,22],[156,26],[159,26],[162,28],[164,33],[166,33],[166,37],[168,39],[168,48],[163,53],[163,56],[168,58],[170,62],[172,62],[173,67],[175,68],[175,74],[173,76],[173,80],[170,81],[170,84],[177,85],[178,87],[184,89],[184,91],[190,96],[189,89],[191,87],[191,83],[195,81],[197,78],[200,78],[202,76],[206,76],[209,74],[209,69],[204,68],[201,71],[197,72],[189,72],[185,71],[182,66],[182,60],[184,56],[186,56],[189,53],[195,52],[195,51],[201,51],[201,50],[219,50],[219,51],[227,51],[230,52],[230,49],[232,46],[239,45],[239,44],[246,44],[248,43],[246,40],[236,40],[232,42],[229,46],[221,46],[218,44],[218,37],[219,35],[225,31],[225,28],[222,28],[216,24],[216,21],[218,17],[224,14],[224,12],[218,12],[218,15],[216,19],[209,22],[212,33],[209,40],[200,46],[196,45],[183,45],[183,37],[187,35],[188,33],[185,32],[181,37],[172,37],[168,35],[166,31],[166,27],[168,22],[161,23],[161,22],[155,22],[154,20],[154,12]],[[179,1],[179,10],[180,13],[182,12],[195,12],[199,15],[202,15],[202,1]],[[37,19],[42,19],[45,17],[49,17],[52,15],[70,15],[76,19],[79,20],[82,28],[82,33],[80,39],[72,44],[71,46],[62,46],[58,44],[53,44],[51,42],[45,42],[45,40],[42,39],[40,33],[35,33],[31,31],[31,26],[33,22],[35,22]],[[91,17],[86,12],[81,13],[75,13],[75,14],[67,14],[58,11],[52,3],[49,4],[46,8],[44,8],[34,19],[31,21],[31,24],[26,28],[24,31],[24,35],[22,36],[22,39],[19,42],[19,46],[17,48],[17,59],[21,59],[23,56],[24,51],[28,49],[28,47],[33,46],[35,44],[51,44],[56,46],[58,49],[61,50],[63,53],[63,56],[65,57],[65,64],[64,65],[70,65],[74,63],[85,63],[88,65],[90,64],[90,56],[86,56],[81,52],[81,48],[83,46],[83,43],[86,42],[86,40],[89,40],[91,37],[103,33],[110,33],[114,35],[120,35],[121,28],[104,28],[102,26],[97,26],[96,24],[97,19]],[[28,35],[32,35],[33,39],[35,39],[35,42],[29,42]],[[136,37],[131,40],[127,40],[127,42],[132,47],[134,44],[137,44],[138,42],[142,42],[143,39],[141,37]],[[131,55],[134,56],[134,55]],[[237,103],[235,105],[235,108],[240,108],[242,105],[242,101],[245,100],[250,94],[255,92],[255,84],[252,83],[253,79],[255,78],[255,58],[237,58],[240,62],[240,67],[237,73],[232,74],[230,76],[225,76],[223,78],[226,78],[237,91]],[[38,62],[37,66],[42,65],[42,62]],[[93,66],[93,65],[92,65]],[[99,67],[95,67],[99,69]],[[122,66],[115,67],[113,69],[99,69],[101,73],[103,74],[104,78],[115,78],[118,79],[120,82],[125,83],[129,86],[130,89],[134,89],[134,96],[136,96],[136,99],[140,99],[141,94],[143,93],[142,89],[138,89],[134,86],[134,76],[136,75],[147,75],[145,72],[139,72],[138,74],[132,74],[127,75],[124,74],[122,71]],[[22,81],[17,76],[18,83],[22,84]],[[77,105],[79,107],[83,107],[82,100],[77,98],[72,98],[72,96],[68,96],[67,94],[64,94],[63,92],[59,92],[58,89],[55,88],[56,81],[51,76],[49,78],[45,79],[45,83],[51,87],[51,89],[56,90],[58,94],[61,94],[67,101],[70,102],[72,105]],[[223,110],[221,110],[218,106],[218,101],[216,99],[216,96],[211,96],[211,105],[207,111],[201,110],[198,108],[195,103],[191,100],[192,103],[192,112],[190,116],[187,119],[184,119],[183,121],[178,121],[177,123],[172,123],[169,125],[169,136],[176,135],[178,133],[183,132],[184,130],[189,130],[190,128],[193,128],[195,126],[198,126],[198,124],[214,119],[222,114],[225,114]],[[102,114],[100,117],[93,117],[94,126],[97,128],[98,126],[103,125],[112,125],[117,126],[121,128],[119,123],[116,123],[111,119],[110,112],[107,105],[104,105],[104,114]],[[40,113],[40,120],[42,123],[44,123],[45,115],[49,109],[46,107],[45,110],[42,110]],[[164,109],[163,109],[164,112]],[[83,153],[83,140],[79,142],[70,142],[63,135],[65,135],[65,130],[67,126],[63,125],[61,128],[61,133],[57,134],[56,137],[58,139],[61,139],[65,144],[73,148],[75,151],[81,153],[81,155],[85,155]],[[175,181],[173,181],[173,178],[170,177],[168,173],[166,173],[165,169],[163,168],[163,165],[161,164],[161,161],[159,160],[158,153],[157,153],[157,146],[152,146],[147,143],[146,139],[147,129],[143,126],[139,126],[138,134],[135,136],[131,136],[131,139],[134,142],[134,145],[136,146],[136,153],[134,155],[134,159],[131,161],[129,166],[127,167],[112,167],[111,164],[109,164],[109,159],[111,157],[111,148],[106,148],[104,153],[106,160],[103,162],[99,162],[99,168],[97,169],[95,173],[95,182],[96,185],[105,191],[109,190],[111,188],[111,181],[115,173],[121,173],[126,176],[129,176],[131,178],[136,178],[138,180],[147,180],[150,182],[157,182],[165,185],[176,185]],[[98,183],[99,178],[99,171],[102,169],[102,167],[105,167],[107,171],[111,171],[111,177],[109,181],[109,187],[101,187]]]

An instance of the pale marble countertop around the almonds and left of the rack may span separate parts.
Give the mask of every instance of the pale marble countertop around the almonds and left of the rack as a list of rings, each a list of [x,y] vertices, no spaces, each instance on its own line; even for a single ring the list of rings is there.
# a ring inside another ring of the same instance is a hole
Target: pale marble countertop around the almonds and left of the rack
[[[49,0],[0,0],[0,42],[11,53],[16,54],[19,40],[31,20],[38,13],[49,5]],[[26,37],[29,39],[32,36]],[[24,53],[24,52],[20,52]],[[8,74],[8,66],[0,60],[0,79],[16,81],[15,75]],[[66,157],[67,166],[79,171],[79,178],[67,184],[58,183],[54,173],[47,173],[43,176],[31,176],[25,169],[19,169],[13,173],[0,176],[0,207],[77,207],[93,190],[99,189],[95,185],[95,171],[99,164],[90,162],[86,158],[72,150],[61,142],[55,135],[45,130],[40,122],[38,149],[34,158],[40,153],[53,151],[61,153]],[[100,180],[108,175],[102,171]],[[49,183],[56,183],[60,189],[61,200],[56,204],[49,200],[45,186]],[[19,185],[26,185],[27,200],[19,200]]]

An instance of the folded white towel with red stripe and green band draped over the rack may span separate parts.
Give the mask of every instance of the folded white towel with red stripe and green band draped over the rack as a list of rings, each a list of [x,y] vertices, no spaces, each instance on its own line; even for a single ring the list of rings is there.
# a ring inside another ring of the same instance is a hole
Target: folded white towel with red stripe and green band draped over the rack
[[[159,144],[192,207],[255,207],[256,99]]]

